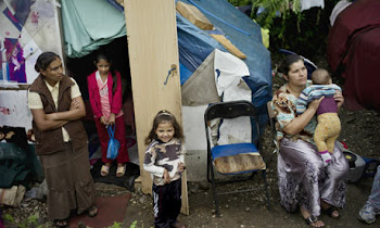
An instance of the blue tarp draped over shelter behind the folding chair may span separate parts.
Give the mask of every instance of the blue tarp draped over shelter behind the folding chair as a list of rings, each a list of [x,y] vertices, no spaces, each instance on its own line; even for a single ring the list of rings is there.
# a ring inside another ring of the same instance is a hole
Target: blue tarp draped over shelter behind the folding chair
[[[226,0],[180,1],[195,5],[214,27],[220,29],[248,56],[243,61],[250,68],[250,76],[244,79],[252,90],[252,102],[259,109],[262,124],[266,124],[266,102],[271,99],[271,66],[270,53],[262,42],[259,25]],[[177,33],[181,84],[214,49],[226,51],[206,30],[198,28],[179,13]]]

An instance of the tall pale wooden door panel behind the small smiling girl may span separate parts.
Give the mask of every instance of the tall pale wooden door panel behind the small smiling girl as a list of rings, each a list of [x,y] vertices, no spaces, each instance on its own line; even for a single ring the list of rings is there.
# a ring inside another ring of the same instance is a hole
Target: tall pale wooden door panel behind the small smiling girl
[[[175,1],[124,0],[124,9],[141,189],[144,193],[151,193],[151,176],[142,168],[147,148],[144,139],[160,110],[172,112],[180,125],[182,118]],[[176,71],[168,75],[173,66]],[[186,175],[182,177],[182,185],[181,212],[189,214]]]

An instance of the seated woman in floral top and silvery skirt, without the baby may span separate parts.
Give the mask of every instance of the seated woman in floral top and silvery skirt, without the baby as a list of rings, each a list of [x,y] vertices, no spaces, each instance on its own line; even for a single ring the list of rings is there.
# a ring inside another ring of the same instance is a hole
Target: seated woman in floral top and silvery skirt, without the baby
[[[288,212],[300,212],[313,227],[324,227],[320,212],[339,218],[337,207],[345,203],[345,177],[349,164],[335,147],[330,163],[325,167],[313,141],[316,128],[316,111],[324,99],[314,100],[306,111],[296,115],[296,100],[311,85],[304,61],[299,55],[288,55],[279,66],[287,80],[273,98],[277,118],[276,128],[280,152],[278,155],[278,181],[281,205]],[[338,107],[343,104],[341,92],[334,94]]]

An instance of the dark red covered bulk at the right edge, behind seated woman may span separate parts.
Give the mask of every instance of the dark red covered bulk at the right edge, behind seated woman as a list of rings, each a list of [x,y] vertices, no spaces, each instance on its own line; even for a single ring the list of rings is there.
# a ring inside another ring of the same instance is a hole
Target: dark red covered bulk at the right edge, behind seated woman
[[[330,29],[327,54],[344,78],[344,105],[380,112],[380,1],[357,0],[345,8]]]

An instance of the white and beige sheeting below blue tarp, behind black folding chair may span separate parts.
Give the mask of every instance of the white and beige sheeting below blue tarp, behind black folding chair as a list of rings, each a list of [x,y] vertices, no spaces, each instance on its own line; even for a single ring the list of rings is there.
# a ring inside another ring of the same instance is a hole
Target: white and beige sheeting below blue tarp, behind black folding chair
[[[214,73],[213,73],[214,72]],[[215,49],[182,86],[183,128],[187,150],[206,150],[203,114],[208,103],[248,100],[252,91],[242,77],[250,75],[246,64],[235,55]],[[211,94],[205,97],[205,94]],[[216,98],[219,98],[218,100]],[[219,144],[250,142],[249,117],[225,119],[219,131]]]

